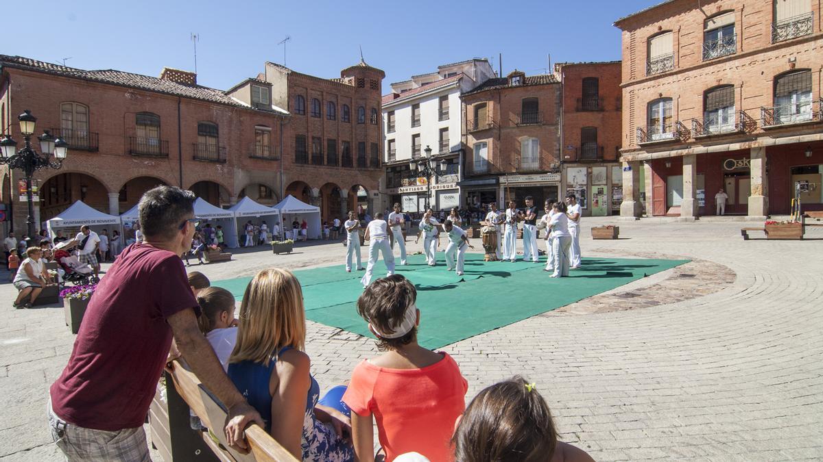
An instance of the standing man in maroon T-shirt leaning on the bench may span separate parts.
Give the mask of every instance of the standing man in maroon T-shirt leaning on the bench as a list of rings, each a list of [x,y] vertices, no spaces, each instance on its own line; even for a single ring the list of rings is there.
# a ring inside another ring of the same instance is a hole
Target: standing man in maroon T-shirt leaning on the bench
[[[72,356],[50,390],[49,427],[68,460],[150,460],[142,425],[173,335],[193,372],[229,409],[230,444],[244,450],[244,427],[263,425],[198,329],[198,303],[179,258],[192,245],[194,199],[177,187],[146,192],[139,206],[145,242],[120,254],[91,298]]]

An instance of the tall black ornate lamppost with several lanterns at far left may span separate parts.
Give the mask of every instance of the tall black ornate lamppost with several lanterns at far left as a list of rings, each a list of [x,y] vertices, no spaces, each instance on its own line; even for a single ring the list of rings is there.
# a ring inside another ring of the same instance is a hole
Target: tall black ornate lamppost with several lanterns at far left
[[[40,140],[40,150],[43,154],[31,148],[31,136],[35,133],[35,123],[37,118],[31,115],[26,109],[17,118],[20,121],[20,132],[25,140],[23,149],[17,151],[17,141],[11,135],[6,135],[0,140],[0,164],[7,164],[9,169],[20,169],[26,174],[26,199],[29,203],[29,215],[26,217],[29,238],[35,236],[35,202],[31,193],[31,176],[40,169],[59,169],[63,167],[63,159],[68,154],[68,143],[62,138],[55,139],[48,130],[38,136]],[[54,156],[52,160],[51,156]]]

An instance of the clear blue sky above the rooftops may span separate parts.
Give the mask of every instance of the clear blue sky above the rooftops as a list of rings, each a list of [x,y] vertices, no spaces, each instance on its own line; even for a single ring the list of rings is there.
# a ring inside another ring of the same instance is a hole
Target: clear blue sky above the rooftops
[[[286,66],[322,77],[356,64],[362,45],[366,62],[386,72],[387,93],[388,83],[447,62],[494,58],[496,70],[498,53],[504,74],[545,72],[548,54],[552,65],[620,59],[612,23],[657,2],[6,2],[3,16],[15,20],[0,53],[158,76],[164,66],[193,70],[195,32],[198,83],[225,90],[266,60],[282,63],[277,43],[291,36]]]

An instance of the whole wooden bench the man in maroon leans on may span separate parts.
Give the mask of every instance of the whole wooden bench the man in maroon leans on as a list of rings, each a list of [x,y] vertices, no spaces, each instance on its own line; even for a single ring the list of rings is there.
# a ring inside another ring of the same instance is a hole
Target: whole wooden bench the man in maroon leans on
[[[158,405],[157,398],[152,402],[150,412],[151,441],[165,460],[296,461],[289,451],[256,424],[245,431],[246,441],[251,449],[249,454],[243,455],[231,449],[226,444],[226,434],[223,432],[226,409],[223,409],[223,405],[202,385],[198,377],[183,367],[179,360],[170,363],[165,377],[165,411],[168,419],[164,421],[164,409],[158,409],[161,406]],[[191,429],[189,408],[197,414],[202,425],[211,431],[198,432]],[[162,434],[164,430],[168,433],[167,437]]]

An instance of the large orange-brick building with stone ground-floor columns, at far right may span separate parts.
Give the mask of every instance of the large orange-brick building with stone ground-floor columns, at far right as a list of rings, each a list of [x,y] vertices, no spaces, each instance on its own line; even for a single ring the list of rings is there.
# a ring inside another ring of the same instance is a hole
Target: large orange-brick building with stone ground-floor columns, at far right
[[[820,2],[671,0],[622,30],[621,215],[823,210]],[[644,181],[641,183],[640,170]]]

